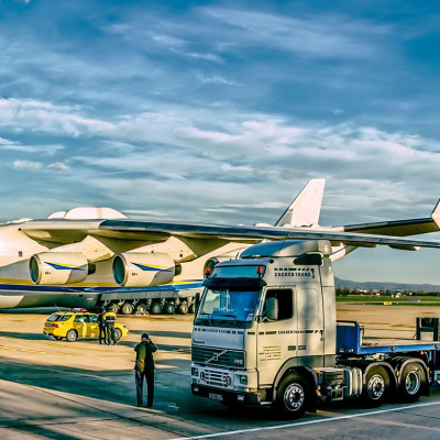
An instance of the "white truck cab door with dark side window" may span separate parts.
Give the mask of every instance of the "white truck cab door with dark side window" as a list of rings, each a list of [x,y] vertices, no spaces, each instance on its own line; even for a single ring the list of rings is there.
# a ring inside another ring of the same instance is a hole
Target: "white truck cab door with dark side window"
[[[265,320],[267,298],[277,298],[278,319]],[[289,358],[297,353],[297,319],[295,316],[295,295],[292,288],[268,288],[262,310],[263,320],[257,332],[257,370],[261,385],[273,384],[275,374]]]

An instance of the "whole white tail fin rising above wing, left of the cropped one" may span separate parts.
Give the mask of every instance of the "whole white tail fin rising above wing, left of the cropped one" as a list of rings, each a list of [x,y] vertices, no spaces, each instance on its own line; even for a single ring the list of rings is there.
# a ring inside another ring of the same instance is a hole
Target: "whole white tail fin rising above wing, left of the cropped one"
[[[326,179],[310,180],[275,223],[275,227],[318,224]]]

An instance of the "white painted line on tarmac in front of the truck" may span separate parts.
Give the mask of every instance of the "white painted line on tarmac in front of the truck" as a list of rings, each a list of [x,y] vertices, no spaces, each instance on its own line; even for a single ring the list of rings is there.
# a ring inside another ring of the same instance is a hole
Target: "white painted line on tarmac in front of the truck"
[[[356,418],[356,417],[377,416],[380,414],[396,413],[396,411],[403,411],[405,409],[414,409],[414,408],[419,408],[419,407],[422,407],[422,406],[433,406],[433,405],[440,405],[440,402],[433,402],[433,403],[430,403],[430,404],[408,405],[408,406],[402,406],[402,407],[398,407],[398,408],[391,408],[391,409],[381,409],[378,411],[370,411],[370,413],[362,413],[362,414],[351,414],[349,416],[331,417],[331,418],[328,418],[328,419],[298,421],[296,424],[276,425],[276,426],[250,428],[250,429],[239,429],[237,431],[215,432],[215,433],[207,433],[207,435],[194,436],[194,437],[176,437],[176,438],[169,439],[169,440],[210,439],[210,438],[215,438],[215,437],[238,436],[238,435],[248,433],[248,432],[258,432],[258,431],[270,431],[270,430],[274,430],[274,429],[296,428],[296,427],[306,426],[306,425],[324,424],[324,422],[329,422],[329,421],[353,419],[353,418]]]

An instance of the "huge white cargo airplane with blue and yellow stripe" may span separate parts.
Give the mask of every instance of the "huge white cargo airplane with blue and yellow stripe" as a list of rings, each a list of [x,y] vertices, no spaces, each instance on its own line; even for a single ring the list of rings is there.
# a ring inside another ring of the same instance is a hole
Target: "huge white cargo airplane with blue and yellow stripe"
[[[0,308],[94,307],[124,289],[197,288],[204,271],[264,240],[329,240],[333,260],[359,246],[440,248],[403,238],[439,230],[430,218],[320,227],[324,180],[310,180],[274,226],[128,219],[111,208],[74,208],[45,220],[0,224]]]

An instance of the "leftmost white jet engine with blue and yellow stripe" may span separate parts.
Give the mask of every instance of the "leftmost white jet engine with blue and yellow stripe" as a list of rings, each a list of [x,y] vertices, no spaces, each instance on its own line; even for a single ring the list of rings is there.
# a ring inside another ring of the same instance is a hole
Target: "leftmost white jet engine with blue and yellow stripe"
[[[29,272],[34,284],[81,283],[89,275],[86,255],[80,252],[42,252],[31,256]]]

